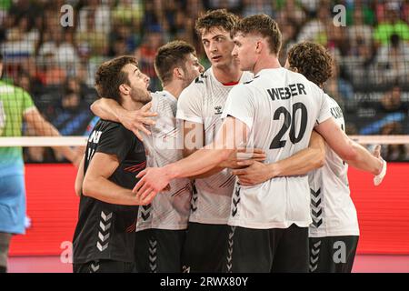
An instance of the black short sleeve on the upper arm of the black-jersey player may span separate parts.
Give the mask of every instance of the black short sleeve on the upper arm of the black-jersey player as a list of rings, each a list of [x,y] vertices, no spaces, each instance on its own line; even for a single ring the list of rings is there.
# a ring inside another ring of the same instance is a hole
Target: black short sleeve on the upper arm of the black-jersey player
[[[103,132],[95,152],[115,155],[122,163],[135,147],[135,139],[135,135],[123,125],[114,125]]]

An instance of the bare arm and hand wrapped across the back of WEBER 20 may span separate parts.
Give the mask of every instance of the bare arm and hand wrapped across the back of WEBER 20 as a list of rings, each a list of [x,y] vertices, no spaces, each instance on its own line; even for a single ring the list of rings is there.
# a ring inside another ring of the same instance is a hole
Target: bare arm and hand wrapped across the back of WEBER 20
[[[272,164],[263,164],[251,160],[239,162],[240,166],[247,167],[234,170],[232,173],[239,178],[242,186],[254,186],[277,176],[305,175],[324,166],[324,161],[324,138],[313,131],[309,146],[295,155]]]

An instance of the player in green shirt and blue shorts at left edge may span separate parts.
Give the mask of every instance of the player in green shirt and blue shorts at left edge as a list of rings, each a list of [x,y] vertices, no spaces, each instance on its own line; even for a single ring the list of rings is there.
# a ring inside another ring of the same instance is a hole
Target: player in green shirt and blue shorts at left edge
[[[3,55],[0,54],[0,77]],[[20,87],[0,81],[0,136],[21,136],[23,121],[36,135],[60,136],[35,107],[31,96]],[[55,147],[75,165],[75,152]],[[0,147],[0,273],[7,269],[7,256],[13,235],[25,234],[25,176],[21,146]]]

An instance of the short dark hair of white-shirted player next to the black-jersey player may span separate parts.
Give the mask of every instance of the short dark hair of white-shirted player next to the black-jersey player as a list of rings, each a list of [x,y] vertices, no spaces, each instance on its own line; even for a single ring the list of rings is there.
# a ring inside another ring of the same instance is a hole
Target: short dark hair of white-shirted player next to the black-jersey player
[[[163,85],[172,81],[175,67],[185,69],[186,56],[195,55],[195,47],[185,41],[175,40],[159,47],[155,55],[155,72]]]

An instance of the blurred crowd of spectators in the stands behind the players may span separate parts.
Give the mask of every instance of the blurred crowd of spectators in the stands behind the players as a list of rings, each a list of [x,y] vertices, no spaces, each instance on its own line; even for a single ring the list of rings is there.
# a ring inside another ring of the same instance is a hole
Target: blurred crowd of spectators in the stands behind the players
[[[63,27],[66,4],[74,25]],[[345,26],[334,25],[334,5],[346,8]],[[84,135],[98,65],[135,55],[159,90],[156,49],[183,39],[208,67],[195,19],[216,8],[273,16],[283,33],[282,65],[297,42],[325,45],[336,62],[324,89],[344,107],[349,135],[409,135],[408,0],[0,0],[3,79],[25,88],[62,135]],[[388,160],[409,160],[408,152],[408,145],[384,148]],[[25,149],[27,162],[60,159],[49,148]]]

